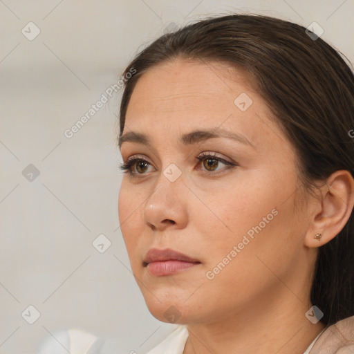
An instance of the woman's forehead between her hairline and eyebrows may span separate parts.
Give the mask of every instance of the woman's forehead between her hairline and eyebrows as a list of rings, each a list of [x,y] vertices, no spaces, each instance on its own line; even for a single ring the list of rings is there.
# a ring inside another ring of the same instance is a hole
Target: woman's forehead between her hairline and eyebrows
[[[252,102],[245,111],[235,104],[238,97]],[[128,105],[124,133],[146,133],[165,143],[188,131],[222,127],[243,134],[254,145],[285,140],[270,114],[245,73],[223,63],[175,59],[140,77]]]

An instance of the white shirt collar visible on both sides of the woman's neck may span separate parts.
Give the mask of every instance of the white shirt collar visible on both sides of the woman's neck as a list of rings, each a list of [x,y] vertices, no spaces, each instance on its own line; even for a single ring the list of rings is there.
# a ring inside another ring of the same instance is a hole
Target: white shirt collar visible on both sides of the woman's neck
[[[322,332],[319,333],[319,335],[321,335]],[[308,346],[304,354],[310,353],[310,350],[315,344],[319,335],[317,335],[317,337],[313,340],[310,346]],[[180,325],[172,333],[170,333],[169,336],[166,337],[160,344],[158,344],[158,346],[151,349],[151,351],[149,351],[147,354],[183,354],[187,338],[187,327]]]

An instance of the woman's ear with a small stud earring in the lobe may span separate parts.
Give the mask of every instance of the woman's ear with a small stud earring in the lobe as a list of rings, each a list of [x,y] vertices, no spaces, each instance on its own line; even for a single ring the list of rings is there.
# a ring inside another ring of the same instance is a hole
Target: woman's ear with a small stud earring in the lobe
[[[346,170],[335,171],[319,189],[310,227],[304,240],[310,248],[319,247],[334,239],[346,225],[353,212],[354,178]],[[322,234],[316,239],[316,234]]]

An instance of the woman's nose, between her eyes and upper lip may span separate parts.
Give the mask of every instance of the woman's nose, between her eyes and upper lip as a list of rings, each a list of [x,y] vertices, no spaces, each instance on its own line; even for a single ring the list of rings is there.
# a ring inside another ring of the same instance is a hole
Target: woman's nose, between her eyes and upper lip
[[[142,209],[142,218],[152,230],[163,231],[168,227],[182,229],[187,225],[188,189],[180,176],[171,182],[164,174],[157,180],[156,188]]]

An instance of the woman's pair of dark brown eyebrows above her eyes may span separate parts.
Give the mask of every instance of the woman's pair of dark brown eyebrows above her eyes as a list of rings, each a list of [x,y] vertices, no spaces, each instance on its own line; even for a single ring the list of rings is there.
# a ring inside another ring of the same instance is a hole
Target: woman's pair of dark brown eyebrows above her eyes
[[[252,142],[250,142],[245,136],[241,136],[238,133],[223,128],[191,131],[190,133],[183,134],[179,141],[183,145],[193,145],[212,138],[227,138],[256,149]],[[120,136],[118,142],[119,148],[122,147],[123,142],[136,142],[151,147],[151,139],[147,135],[136,133],[135,131],[129,131]]]

